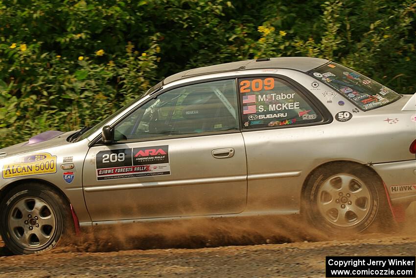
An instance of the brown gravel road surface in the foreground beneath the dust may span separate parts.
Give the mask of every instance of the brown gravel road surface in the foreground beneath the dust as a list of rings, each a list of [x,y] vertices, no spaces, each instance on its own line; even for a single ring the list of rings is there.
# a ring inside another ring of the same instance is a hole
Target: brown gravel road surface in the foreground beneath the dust
[[[415,237],[0,258],[0,277],[325,277],[327,255],[416,255]]]

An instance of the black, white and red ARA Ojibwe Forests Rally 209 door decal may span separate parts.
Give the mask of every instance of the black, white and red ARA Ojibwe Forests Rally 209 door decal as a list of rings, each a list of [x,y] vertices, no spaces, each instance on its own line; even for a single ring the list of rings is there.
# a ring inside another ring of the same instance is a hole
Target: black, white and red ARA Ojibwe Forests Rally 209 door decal
[[[100,151],[97,180],[170,175],[169,146]]]

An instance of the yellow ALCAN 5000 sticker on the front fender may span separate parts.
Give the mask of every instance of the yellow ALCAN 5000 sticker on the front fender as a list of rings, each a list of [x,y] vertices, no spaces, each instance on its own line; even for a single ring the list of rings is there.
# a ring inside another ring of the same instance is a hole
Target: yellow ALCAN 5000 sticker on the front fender
[[[3,165],[3,178],[56,173],[56,156],[47,152],[33,153]]]

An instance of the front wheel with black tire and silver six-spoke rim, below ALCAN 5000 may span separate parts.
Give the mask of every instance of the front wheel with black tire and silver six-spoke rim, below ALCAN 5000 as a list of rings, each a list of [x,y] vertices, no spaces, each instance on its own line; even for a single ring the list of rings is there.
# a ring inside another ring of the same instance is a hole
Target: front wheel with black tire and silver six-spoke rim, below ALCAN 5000
[[[49,250],[72,226],[68,202],[42,183],[17,185],[0,202],[0,234],[12,253]]]

